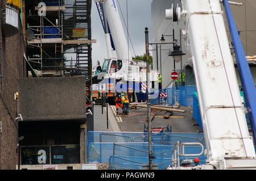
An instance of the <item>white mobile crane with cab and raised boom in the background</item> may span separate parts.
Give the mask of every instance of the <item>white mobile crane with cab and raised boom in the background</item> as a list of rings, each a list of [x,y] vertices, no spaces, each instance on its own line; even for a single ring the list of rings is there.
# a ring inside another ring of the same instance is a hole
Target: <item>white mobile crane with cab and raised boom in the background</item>
[[[108,52],[108,58],[105,59],[102,66],[102,73],[97,75],[97,79],[111,78],[117,82],[122,80],[130,83],[146,82],[146,62],[131,60],[132,57],[118,12],[117,2],[115,0],[94,1],[105,31]],[[114,68],[112,68],[112,65]],[[150,81],[158,81],[157,71],[151,71]]]

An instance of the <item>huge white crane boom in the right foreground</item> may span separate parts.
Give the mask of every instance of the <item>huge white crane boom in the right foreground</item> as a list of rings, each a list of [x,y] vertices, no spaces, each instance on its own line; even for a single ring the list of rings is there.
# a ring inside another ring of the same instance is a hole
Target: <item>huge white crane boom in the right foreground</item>
[[[182,11],[177,7],[166,10],[166,15],[168,19],[185,18],[207,147],[207,164],[201,168],[256,169],[220,0],[181,3]]]

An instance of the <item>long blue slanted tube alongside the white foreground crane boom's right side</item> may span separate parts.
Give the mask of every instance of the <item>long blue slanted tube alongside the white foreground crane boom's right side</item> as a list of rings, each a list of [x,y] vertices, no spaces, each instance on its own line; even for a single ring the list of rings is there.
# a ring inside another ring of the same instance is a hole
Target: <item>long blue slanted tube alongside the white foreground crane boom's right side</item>
[[[254,80],[253,76],[251,75],[248,62],[246,60],[240,36],[238,35],[232,11],[229,7],[229,2],[228,0],[222,0],[222,2],[225,7],[226,17],[228,18],[230,34],[232,36],[234,50],[236,53],[237,67],[242,82],[243,92],[245,93],[245,100],[247,110],[249,111],[251,127],[253,129],[254,141],[256,141],[256,89],[254,85]]]

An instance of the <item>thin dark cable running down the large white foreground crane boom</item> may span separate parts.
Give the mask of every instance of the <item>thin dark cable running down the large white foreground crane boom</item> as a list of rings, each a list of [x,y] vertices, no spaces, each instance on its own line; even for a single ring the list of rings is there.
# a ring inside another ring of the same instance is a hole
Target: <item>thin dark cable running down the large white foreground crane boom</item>
[[[242,137],[241,140],[243,142],[243,148],[245,149],[245,142],[243,141],[242,131],[241,131],[241,127],[240,127],[239,120],[238,120],[238,115],[237,115],[237,110],[236,110],[236,105],[234,103],[234,98],[233,98],[232,90],[231,90],[231,87],[230,87],[229,77],[228,77],[228,73],[226,71],[226,65],[225,65],[224,56],[223,56],[221,45],[220,45],[220,38],[218,37],[217,27],[216,27],[216,23],[215,23],[214,16],[213,16],[213,10],[212,10],[212,6],[210,4],[210,0],[208,0],[208,1],[209,1],[209,6],[210,6],[210,11],[212,11],[212,19],[213,19],[213,23],[214,23],[214,28],[215,28],[215,32],[216,32],[217,39],[218,39],[218,45],[219,45],[220,52],[221,52],[221,57],[222,57],[222,61],[223,61],[223,65],[224,65],[224,69],[225,69],[225,73],[226,73],[226,78],[228,80],[228,86],[229,86],[229,91],[230,91],[230,95],[231,95],[233,106],[234,106],[234,111],[235,111],[236,117],[237,117],[237,123],[238,123],[239,131],[240,131],[240,134],[241,134],[241,137]],[[247,153],[246,153],[246,149],[245,149],[245,154],[246,154],[246,157],[248,157]]]

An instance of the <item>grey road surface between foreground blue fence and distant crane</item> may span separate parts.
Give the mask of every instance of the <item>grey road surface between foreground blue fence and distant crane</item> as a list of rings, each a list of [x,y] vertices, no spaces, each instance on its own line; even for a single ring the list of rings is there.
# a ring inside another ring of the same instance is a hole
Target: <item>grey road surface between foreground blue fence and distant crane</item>
[[[181,107],[180,110],[186,110],[186,113],[173,112],[171,116],[180,116],[178,118],[163,119],[160,116],[165,115],[165,111],[158,111],[156,118],[152,120],[152,128],[172,127],[172,132],[179,133],[197,133],[201,131],[199,126],[194,126],[196,121],[192,119],[192,108]],[[94,131],[114,131],[114,132],[143,132],[144,125],[147,126],[147,109],[137,108],[130,110],[128,116],[117,116],[115,107],[109,106],[109,129],[106,129],[106,107],[104,114],[101,114],[101,106],[94,106]],[[120,109],[119,112],[122,113]]]

